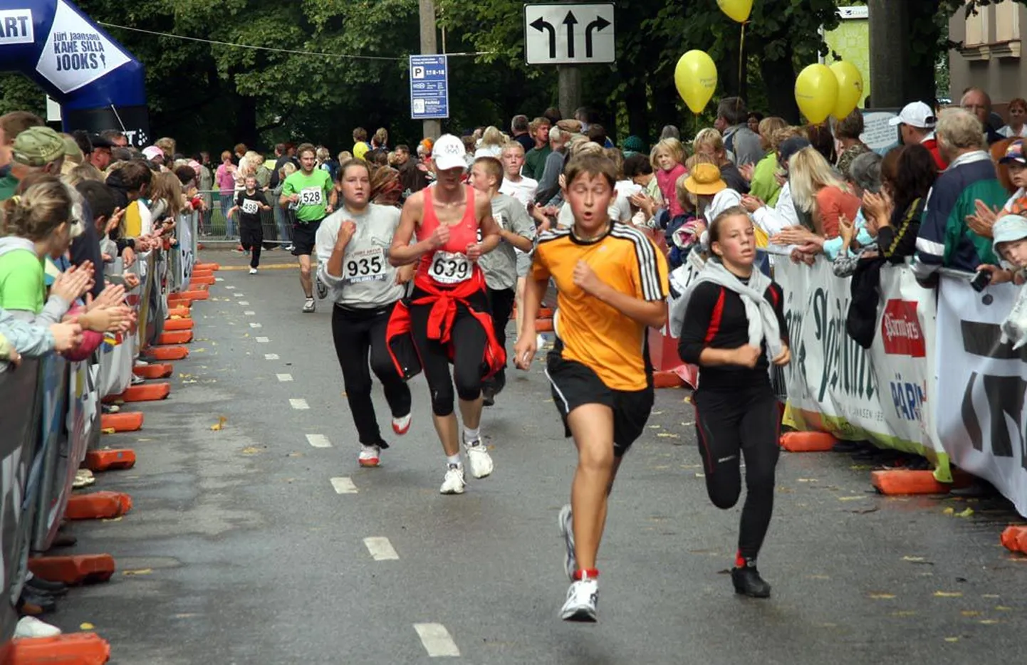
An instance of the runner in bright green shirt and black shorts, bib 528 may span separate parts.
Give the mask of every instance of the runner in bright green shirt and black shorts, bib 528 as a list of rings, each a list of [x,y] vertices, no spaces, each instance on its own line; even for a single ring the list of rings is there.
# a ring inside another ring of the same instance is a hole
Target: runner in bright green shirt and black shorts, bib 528
[[[300,170],[286,179],[281,188],[278,205],[296,209],[296,224],[293,225],[293,256],[300,260],[300,285],[306,301],[303,311],[307,314],[315,309],[313,280],[311,278],[310,255],[313,253],[317,229],[321,220],[332,212],[329,194],[332,193],[332,177],[328,171],[316,168],[317,152],[310,144],[303,144],[297,150]],[[317,296],[325,298],[328,289],[317,280]]]

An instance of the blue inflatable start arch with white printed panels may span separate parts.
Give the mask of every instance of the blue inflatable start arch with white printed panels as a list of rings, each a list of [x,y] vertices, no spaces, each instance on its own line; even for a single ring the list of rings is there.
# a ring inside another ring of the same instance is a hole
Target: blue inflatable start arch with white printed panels
[[[0,0],[0,71],[38,83],[66,131],[119,129],[150,143],[143,64],[68,0]]]

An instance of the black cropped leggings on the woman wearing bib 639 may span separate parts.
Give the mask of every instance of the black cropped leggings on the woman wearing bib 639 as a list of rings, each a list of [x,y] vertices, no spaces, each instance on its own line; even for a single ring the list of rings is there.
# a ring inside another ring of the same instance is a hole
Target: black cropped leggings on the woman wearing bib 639
[[[425,294],[415,288],[411,300],[417,300]],[[480,312],[488,312],[488,300],[484,292],[474,294],[468,299],[471,306]],[[428,316],[431,305],[411,305],[410,324],[414,338],[414,346],[421,356],[424,378],[431,391],[431,413],[435,416],[449,416],[453,413],[455,402],[453,385],[456,384],[456,395],[464,401],[473,401],[482,395],[482,378],[485,376],[485,345],[488,338],[485,328],[478,322],[467,308],[457,304],[453,329],[450,332],[450,344],[453,347],[453,377],[450,378],[449,353],[446,345],[438,340],[428,339]]]

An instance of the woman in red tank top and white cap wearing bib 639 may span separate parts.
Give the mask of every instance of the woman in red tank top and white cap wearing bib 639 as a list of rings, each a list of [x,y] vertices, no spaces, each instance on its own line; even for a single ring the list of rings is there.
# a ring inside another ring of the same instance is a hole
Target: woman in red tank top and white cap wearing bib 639
[[[457,396],[470,472],[484,478],[493,468],[480,430],[482,381],[498,371],[506,357],[492,327],[485,276],[478,260],[499,244],[499,229],[488,196],[460,182],[467,164],[463,143],[450,134],[440,136],[432,158],[435,187],[407,199],[392,239],[392,265],[418,262],[418,266],[413,292],[393,311],[387,339],[391,343],[407,331],[414,339],[431,391],[435,431],[446,453],[446,476],[440,492],[463,494],[454,413]],[[411,244],[415,235],[417,242]]]

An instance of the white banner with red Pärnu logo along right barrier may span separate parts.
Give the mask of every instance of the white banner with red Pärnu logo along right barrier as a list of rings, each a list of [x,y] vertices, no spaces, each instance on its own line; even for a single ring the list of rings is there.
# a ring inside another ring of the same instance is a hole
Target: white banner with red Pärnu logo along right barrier
[[[813,266],[778,262],[792,362],[785,370],[785,424],[830,432],[927,457],[939,480],[951,480],[948,458],[935,441],[927,404],[936,312],[931,291],[909,270],[881,269],[881,304],[874,342],[862,348],[845,329],[850,284],[823,259]]]

